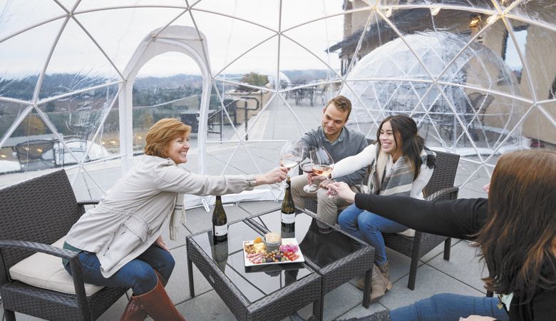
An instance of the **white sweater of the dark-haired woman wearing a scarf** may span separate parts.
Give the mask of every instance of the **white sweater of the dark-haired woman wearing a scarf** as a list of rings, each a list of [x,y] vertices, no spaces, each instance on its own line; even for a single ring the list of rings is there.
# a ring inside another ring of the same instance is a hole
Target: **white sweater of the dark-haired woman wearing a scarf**
[[[342,159],[338,163],[334,164],[334,169],[332,170],[331,177],[334,179],[336,177],[341,177],[349,173],[353,173],[360,168],[371,165],[376,158],[376,144],[371,144],[367,146],[361,153]],[[386,162],[386,175],[391,175],[393,168],[392,156],[388,154],[388,161]],[[421,171],[417,176],[416,180],[413,180],[413,185],[411,185],[412,198],[423,199],[423,188],[428,183],[433,175],[433,168],[428,168],[426,163],[421,165]]]

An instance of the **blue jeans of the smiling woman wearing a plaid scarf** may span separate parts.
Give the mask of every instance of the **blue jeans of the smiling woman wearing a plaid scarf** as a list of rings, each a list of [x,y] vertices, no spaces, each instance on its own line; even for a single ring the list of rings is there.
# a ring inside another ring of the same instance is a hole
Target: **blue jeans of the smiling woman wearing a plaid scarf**
[[[377,265],[386,263],[386,246],[382,233],[397,233],[407,230],[404,225],[388,220],[380,215],[361,210],[355,204],[349,205],[338,216],[342,230],[364,240],[374,248],[374,262]]]

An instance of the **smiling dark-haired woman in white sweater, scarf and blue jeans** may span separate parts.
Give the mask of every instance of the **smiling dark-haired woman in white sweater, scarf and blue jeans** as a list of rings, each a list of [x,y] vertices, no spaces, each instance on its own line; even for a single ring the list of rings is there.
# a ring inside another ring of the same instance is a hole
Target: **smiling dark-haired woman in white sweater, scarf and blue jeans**
[[[389,116],[380,124],[376,138],[376,143],[361,153],[336,163],[331,178],[369,166],[369,193],[423,198],[422,190],[433,175],[434,156],[426,151],[415,121],[406,115]],[[343,230],[375,248],[371,281],[371,302],[374,302],[392,287],[388,280],[388,258],[382,233],[401,233],[408,228],[356,205],[343,210],[338,223]],[[358,280],[357,287],[364,287],[363,278]]]

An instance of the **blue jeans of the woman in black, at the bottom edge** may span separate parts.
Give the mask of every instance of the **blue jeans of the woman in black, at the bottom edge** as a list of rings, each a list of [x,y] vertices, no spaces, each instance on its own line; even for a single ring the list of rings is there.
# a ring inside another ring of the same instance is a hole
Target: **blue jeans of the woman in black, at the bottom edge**
[[[504,308],[498,309],[498,297],[471,297],[442,293],[420,300],[406,307],[390,311],[392,321],[406,320],[459,320],[469,315],[494,317],[497,320],[510,320]]]

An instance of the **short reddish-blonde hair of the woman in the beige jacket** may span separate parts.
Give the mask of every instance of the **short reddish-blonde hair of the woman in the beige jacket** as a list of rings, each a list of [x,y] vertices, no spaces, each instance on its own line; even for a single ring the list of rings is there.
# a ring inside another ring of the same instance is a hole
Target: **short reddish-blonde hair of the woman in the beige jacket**
[[[191,132],[191,126],[187,126],[175,118],[163,118],[157,121],[147,133],[145,141],[146,155],[168,157],[168,145],[176,137],[187,136]]]

